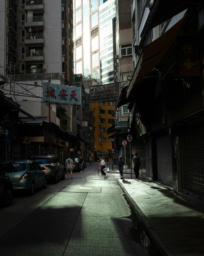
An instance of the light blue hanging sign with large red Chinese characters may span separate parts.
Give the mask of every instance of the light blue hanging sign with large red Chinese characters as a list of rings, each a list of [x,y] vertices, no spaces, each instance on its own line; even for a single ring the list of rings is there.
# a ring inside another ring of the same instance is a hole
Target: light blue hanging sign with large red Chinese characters
[[[60,103],[81,105],[81,88],[55,83],[42,83],[42,100]]]

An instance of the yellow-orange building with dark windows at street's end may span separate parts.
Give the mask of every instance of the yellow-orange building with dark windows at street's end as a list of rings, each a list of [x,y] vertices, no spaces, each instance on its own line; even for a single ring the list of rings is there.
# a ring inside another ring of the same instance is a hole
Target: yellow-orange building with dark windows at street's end
[[[94,147],[98,156],[107,156],[112,149],[112,142],[108,139],[107,128],[114,125],[114,102],[92,103],[92,111],[95,117],[94,122]],[[99,154],[101,153],[101,154]]]

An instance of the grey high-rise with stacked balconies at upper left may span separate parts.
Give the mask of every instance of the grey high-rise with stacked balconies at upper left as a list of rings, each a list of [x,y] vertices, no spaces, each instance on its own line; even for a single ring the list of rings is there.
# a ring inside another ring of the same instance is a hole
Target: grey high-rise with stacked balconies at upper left
[[[12,62],[15,74],[29,75],[19,77],[20,81],[47,80],[48,74],[58,73],[64,84],[72,82],[72,0],[1,2],[1,74]]]

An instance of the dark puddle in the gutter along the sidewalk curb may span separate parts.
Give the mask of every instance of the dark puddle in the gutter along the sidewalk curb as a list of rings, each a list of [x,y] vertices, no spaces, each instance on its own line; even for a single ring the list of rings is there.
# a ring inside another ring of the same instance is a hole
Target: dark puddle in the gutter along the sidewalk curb
[[[159,248],[153,241],[151,235],[148,233],[146,227],[139,219],[137,213],[134,211],[132,206],[127,201],[126,196],[123,194],[124,199],[126,200],[128,207],[130,208],[131,215],[123,218],[128,218],[133,222],[133,228],[129,230],[129,234],[132,237],[132,240],[136,242],[138,245],[147,249],[147,253],[143,254],[143,256],[163,256],[160,252]]]

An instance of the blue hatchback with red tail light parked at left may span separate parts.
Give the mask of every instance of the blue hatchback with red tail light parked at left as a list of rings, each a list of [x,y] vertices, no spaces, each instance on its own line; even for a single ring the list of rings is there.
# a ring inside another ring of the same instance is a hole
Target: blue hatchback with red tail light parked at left
[[[34,160],[5,161],[0,163],[0,170],[11,178],[13,189],[29,190],[33,195],[36,188],[47,187],[44,168]]]

